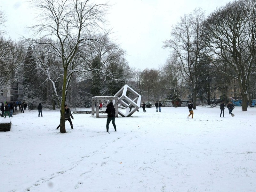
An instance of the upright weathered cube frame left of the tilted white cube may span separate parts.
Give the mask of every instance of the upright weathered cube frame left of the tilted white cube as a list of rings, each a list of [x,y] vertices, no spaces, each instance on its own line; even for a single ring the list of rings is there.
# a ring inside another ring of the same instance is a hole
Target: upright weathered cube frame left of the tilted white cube
[[[92,97],[92,116],[94,116],[94,108],[96,103],[96,117],[107,117],[108,115],[101,115],[100,116],[100,102],[103,103],[104,106],[107,107],[108,103],[112,101],[114,104],[114,107],[116,109],[116,117],[118,116],[118,109],[117,109],[117,103],[118,103],[118,97],[104,97],[104,96],[96,96]]]

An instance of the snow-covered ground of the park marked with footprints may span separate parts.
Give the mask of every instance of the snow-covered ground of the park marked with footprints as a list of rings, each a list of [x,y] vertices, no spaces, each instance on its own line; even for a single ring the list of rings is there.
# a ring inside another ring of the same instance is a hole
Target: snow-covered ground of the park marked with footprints
[[[0,191],[256,191],[256,108],[146,110],[119,116],[110,134],[91,114],[73,114],[65,134],[59,110],[15,114],[0,132]]]

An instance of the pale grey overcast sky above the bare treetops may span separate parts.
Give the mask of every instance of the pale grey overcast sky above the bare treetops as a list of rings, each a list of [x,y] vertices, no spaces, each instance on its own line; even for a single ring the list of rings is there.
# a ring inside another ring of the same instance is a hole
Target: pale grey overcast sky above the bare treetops
[[[115,32],[116,41],[126,50],[126,60],[133,68],[158,68],[163,65],[169,51],[163,41],[170,38],[172,25],[185,13],[201,7],[208,15],[217,7],[233,0],[109,0],[108,21]],[[97,0],[96,0],[97,2]],[[5,12],[8,36],[18,40],[28,36],[27,27],[34,15],[25,0],[0,0]]]

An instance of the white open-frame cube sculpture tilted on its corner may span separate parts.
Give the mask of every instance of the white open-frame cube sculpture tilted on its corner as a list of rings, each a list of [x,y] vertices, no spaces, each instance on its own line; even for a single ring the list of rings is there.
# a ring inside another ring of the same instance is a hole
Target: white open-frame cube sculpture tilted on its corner
[[[132,98],[129,98],[126,95],[127,91],[130,91],[133,94]],[[120,97],[118,97],[118,96],[120,96]],[[120,91],[118,91],[115,94],[115,97],[118,97],[118,104],[123,105],[123,106],[118,105],[118,108],[121,108],[121,109],[118,109],[118,114],[121,115],[122,117],[129,117],[140,108],[141,95],[138,94],[136,91],[134,91],[128,85],[124,85],[123,88],[120,89]],[[132,107],[132,106],[134,106],[134,108],[132,108],[131,112],[129,112],[130,107]]]

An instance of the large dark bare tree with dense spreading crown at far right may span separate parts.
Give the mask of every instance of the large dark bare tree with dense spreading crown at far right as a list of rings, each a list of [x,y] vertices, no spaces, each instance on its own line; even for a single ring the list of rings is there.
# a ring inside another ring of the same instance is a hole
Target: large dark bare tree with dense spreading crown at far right
[[[242,111],[247,111],[247,86],[255,65],[255,18],[256,1],[241,0],[217,9],[204,23],[209,52],[217,61],[226,62],[232,68],[228,72],[218,69],[237,79],[243,100]]]

